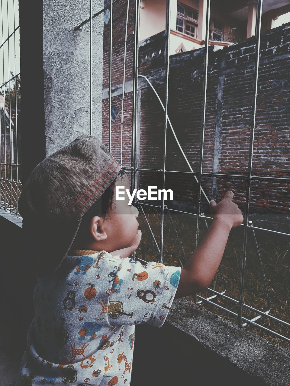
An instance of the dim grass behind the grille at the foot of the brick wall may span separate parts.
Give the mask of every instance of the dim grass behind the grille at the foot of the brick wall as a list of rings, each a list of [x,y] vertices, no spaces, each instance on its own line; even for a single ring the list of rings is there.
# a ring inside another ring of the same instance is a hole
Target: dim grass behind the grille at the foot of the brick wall
[[[146,210],[145,210],[146,209]],[[144,208],[148,222],[155,235],[157,243],[160,243],[160,213],[152,208]],[[174,225],[183,244],[186,256],[189,256],[195,249],[195,233],[196,219],[185,215],[172,215]],[[210,222],[208,223],[210,225]],[[140,252],[142,258],[146,261],[156,261],[154,251],[146,236],[145,229],[142,229],[142,240]],[[241,281],[241,264],[242,264],[242,245],[243,245],[243,227],[237,227],[230,232],[229,240],[225,248],[223,259],[221,262],[222,271],[227,283],[227,291],[225,295],[239,300],[239,288]],[[201,221],[200,240],[206,234],[204,221]],[[290,240],[289,237],[271,234],[269,232],[256,231],[256,239],[263,263],[266,283],[271,299],[270,314],[290,323],[290,307],[289,307],[289,290],[290,290]],[[139,253],[140,253],[139,252]],[[138,256],[140,256],[138,254]],[[181,254],[176,236],[172,229],[169,218],[165,214],[164,217],[164,264],[180,266],[183,264],[183,256]],[[217,273],[210,285],[210,288],[222,291],[223,284],[220,274]],[[211,296],[209,291],[203,291],[199,295],[203,297]],[[193,300],[193,296],[189,297]],[[213,299],[217,304],[238,313],[238,307],[231,301],[223,300],[222,298]],[[261,271],[259,267],[258,257],[254,247],[251,232],[248,235],[247,256],[246,256],[246,271],[244,281],[244,303],[262,311],[267,309],[267,301],[265,289],[263,286]],[[204,303],[202,307],[218,314],[222,318],[226,318],[230,322],[237,323],[237,319],[232,317],[227,312],[219,310],[217,307],[208,303]],[[257,313],[243,308],[243,316],[253,318]],[[278,322],[273,322],[269,318],[262,317],[257,320],[257,323],[269,328],[278,334],[284,335],[290,339],[289,328]],[[249,325],[247,330],[260,335],[261,337],[277,344],[281,347],[290,349],[290,344],[282,339],[277,339],[273,334],[264,332],[261,328]]]

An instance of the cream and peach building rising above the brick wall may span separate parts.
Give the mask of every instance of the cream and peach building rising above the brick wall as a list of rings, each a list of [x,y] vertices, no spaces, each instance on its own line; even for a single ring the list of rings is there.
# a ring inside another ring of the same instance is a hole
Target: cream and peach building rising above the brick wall
[[[205,0],[171,0],[170,54],[205,45]],[[275,27],[275,20],[290,12],[288,0],[264,0],[261,32]],[[223,48],[255,34],[256,0],[213,0],[210,10],[210,44]],[[165,30],[165,0],[142,0],[140,40]],[[290,19],[290,18],[289,18]]]

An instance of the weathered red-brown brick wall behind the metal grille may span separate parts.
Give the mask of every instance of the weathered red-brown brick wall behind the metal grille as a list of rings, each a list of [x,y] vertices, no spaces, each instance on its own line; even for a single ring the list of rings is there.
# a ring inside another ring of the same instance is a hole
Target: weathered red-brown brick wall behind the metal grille
[[[120,8],[121,8],[121,3]],[[124,8],[125,9],[125,8]],[[126,10],[125,10],[126,11]],[[128,27],[126,82],[132,79],[133,9],[130,7]],[[117,12],[116,12],[117,15]],[[118,24],[118,37],[113,36],[113,85],[123,82],[123,50],[125,14],[119,12],[113,22]],[[104,58],[108,57],[105,26]],[[164,100],[165,34],[141,42],[139,73],[146,75]],[[267,31],[261,36],[260,68],[256,108],[256,129],[252,174],[268,177],[289,177],[290,170],[290,25]],[[203,152],[203,171],[247,175],[252,115],[254,69],[254,39],[250,38],[223,50],[210,47],[206,125]],[[152,56],[152,54],[154,54]],[[204,49],[184,52],[170,57],[168,115],[177,138],[194,171],[198,171],[200,157],[200,127],[203,93]],[[116,66],[116,67],[115,67]],[[140,80],[139,91],[139,151],[140,168],[162,168],[164,112],[154,92]],[[104,89],[108,72],[104,64]],[[112,124],[112,152],[119,159],[121,125],[121,91],[113,97],[119,110]],[[114,94],[113,92],[113,94]],[[131,100],[125,94],[123,166],[131,160]],[[103,100],[103,140],[107,141],[108,100]],[[179,151],[167,125],[166,169],[188,172],[188,166]],[[160,173],[140,173],[140,187],[157,185]],[[166,175],[167,188],[174,191],[174,200],[194,205],[197,184],[192,174]],[[219,200],[224,191],[235,193],[235,202],[244,209],[246,182],[242,179],[203,178],[206,195]],[[206,201],[202,210],[206,212]],[[251,212],[289,215],[290,187],[286,183],[255,181],[251,184]]]

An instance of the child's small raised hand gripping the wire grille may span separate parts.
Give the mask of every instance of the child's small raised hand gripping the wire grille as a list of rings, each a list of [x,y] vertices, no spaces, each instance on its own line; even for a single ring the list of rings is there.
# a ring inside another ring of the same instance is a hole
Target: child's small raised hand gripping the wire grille
[[[241,225],[244,220],[241,209],[232,202],[233,197],[234,193],[229,190],[218,204],[214,200],[210,201],[210,212],[213,220],[221,220],[230,228]]]

